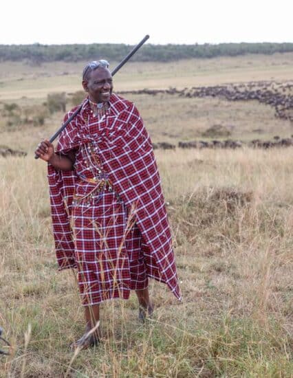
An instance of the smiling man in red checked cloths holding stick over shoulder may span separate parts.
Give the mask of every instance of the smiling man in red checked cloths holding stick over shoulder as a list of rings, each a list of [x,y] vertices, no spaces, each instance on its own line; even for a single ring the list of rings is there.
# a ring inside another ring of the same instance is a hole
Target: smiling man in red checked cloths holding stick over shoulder
[[[104,300],[127,299],[135,290],[140,320],[151,315],[149,277],[181,299],[151,140],[135,105],[112,93],[108,67],[106,60],[85,66],[88,96],[80,113],[61,133],[56,152],[48,140],[35,151],[48,162],[58,264],[78,271],[87,322],[75,344],[81,348],[98,342]]]

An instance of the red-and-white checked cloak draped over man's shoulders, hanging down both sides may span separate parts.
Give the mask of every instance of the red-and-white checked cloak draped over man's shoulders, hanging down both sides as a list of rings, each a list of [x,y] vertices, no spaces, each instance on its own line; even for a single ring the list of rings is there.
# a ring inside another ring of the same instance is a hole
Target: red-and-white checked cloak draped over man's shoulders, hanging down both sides
[[[74,170],[56,170],[48,164],[52,225],[59,269],[78,268],[72,230],[74,193],[80,180],[80,151],[96,146],[103,170],[113,190],[134,214],[143,238],[146,276],[164,282],[181,300],[171,230],[160,175],[150,137],[135,105],[112,93],[109,109],[98,122],[91,116],[89,100],[61,133],[56,153],[76,153]],[[65,121],[76,108],[65,115]],[[82,160],[80,160],[82,162]],[[91,173],[87,173],[90,175]],[[89,188],[90,190],[90,188]]]

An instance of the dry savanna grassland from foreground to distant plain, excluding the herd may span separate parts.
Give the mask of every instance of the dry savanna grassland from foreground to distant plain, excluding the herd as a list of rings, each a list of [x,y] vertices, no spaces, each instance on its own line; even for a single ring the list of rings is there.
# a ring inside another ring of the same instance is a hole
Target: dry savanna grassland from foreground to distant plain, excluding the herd
[[[285,83],[292,58],[129,63],[114,84],[122,91]],[[74,272],[56,269],[46,167],[33,151],[63,119],[45,109],[47,94],[65,91],[69,109],[82,68],[0,63],[0,144],[28,153],[0,157],[0,326],[12,344],[11,355],[0,356],[0,377],[292,377],[292,146],[156,150],[183,303],[151,282],[151,320],[138,322],[134,294],[107,302],[100,346],[69,351],[84,330],[83,308]],[[293,133],[292,122],[257,101],[127,97],[153,142],[197,140],[214,124],[239,140]]]

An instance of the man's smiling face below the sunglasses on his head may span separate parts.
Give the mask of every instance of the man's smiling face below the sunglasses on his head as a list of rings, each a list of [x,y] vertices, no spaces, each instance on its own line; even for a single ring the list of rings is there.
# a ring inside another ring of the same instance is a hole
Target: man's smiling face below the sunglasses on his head
[[[89,93],[89,100],[93,102],[107,102],[113,89],[112,76],[109,69],[98,67],[89,73],[87,80],[83,80],[83,89]]]

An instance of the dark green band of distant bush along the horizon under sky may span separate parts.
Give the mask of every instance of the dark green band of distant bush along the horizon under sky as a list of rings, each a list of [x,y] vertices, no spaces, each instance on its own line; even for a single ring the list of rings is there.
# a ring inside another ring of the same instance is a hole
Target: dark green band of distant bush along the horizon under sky
[[[43,62],[89,61],[99,58],[122,60],[131,45],[93,43],[91,45],[0,45],[0,60],[26,60],[39,65]],[[147,44],[131,58],[133,61],[169,62],[186,58],[214,58],[244,54],[274,54],[293,52],[293,43],[219,43],[211,45],[151,45]]]

